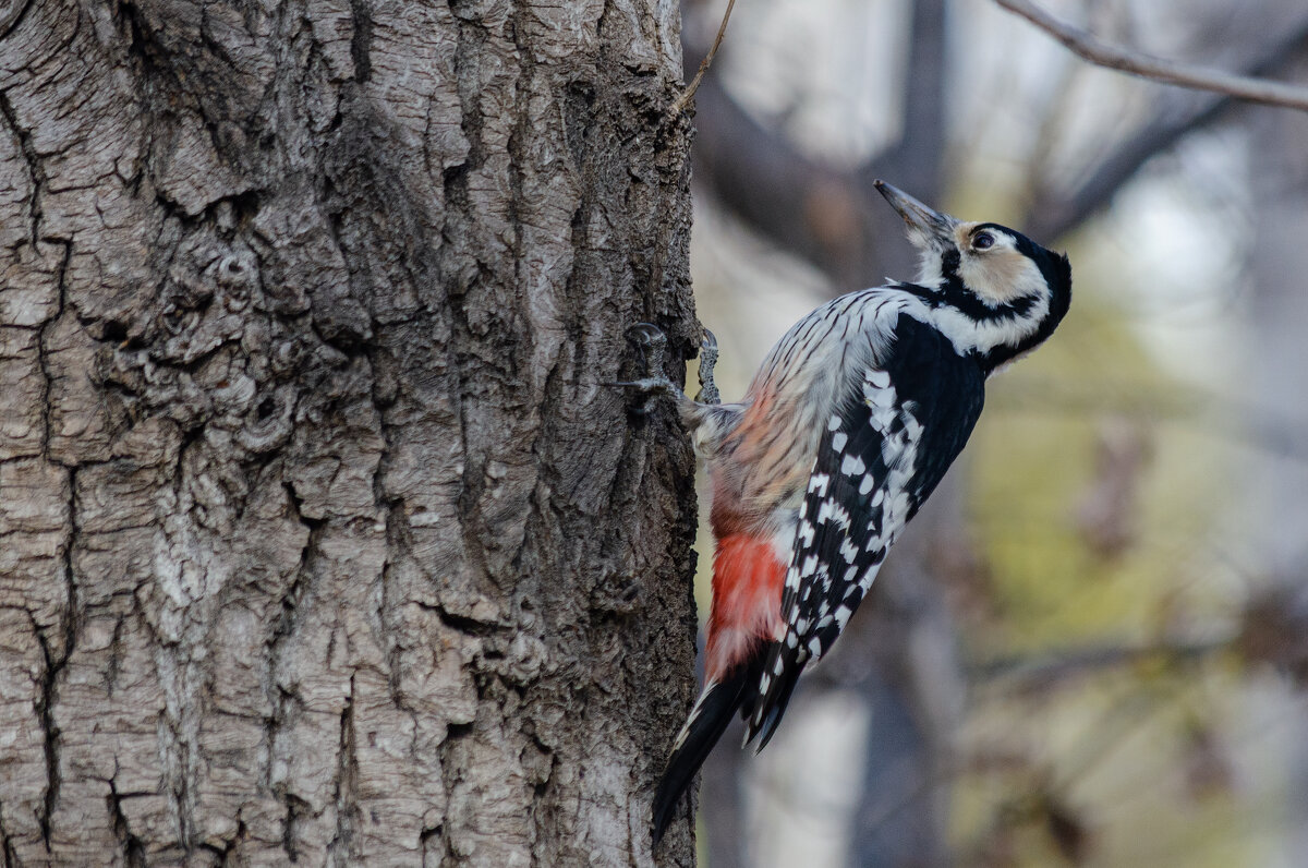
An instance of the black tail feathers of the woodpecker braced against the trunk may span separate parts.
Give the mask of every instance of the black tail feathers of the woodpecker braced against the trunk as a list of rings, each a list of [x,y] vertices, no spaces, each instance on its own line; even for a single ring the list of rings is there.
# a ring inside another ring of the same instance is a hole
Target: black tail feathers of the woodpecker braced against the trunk
[[[681,793],[691,786],[695,772],[726,732],[731,715],[744,703],[747,693],[757,681],[756,669],[756,665],[735,666],[722,681],[709,681],[704,685],[704,691],[695,702],[691,716],[672,745],[672,755],[668,757],[663,779],[654,795],[655,844],[672,820],[672,809]]]

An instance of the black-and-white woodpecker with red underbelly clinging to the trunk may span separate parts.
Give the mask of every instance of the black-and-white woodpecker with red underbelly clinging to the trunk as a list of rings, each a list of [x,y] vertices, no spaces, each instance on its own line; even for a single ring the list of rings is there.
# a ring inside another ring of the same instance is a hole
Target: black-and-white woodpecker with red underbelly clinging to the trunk
[[[746,745],[768,744],[799,674],[831,649],[967,443],[986,378],[1053,334],[1071,302],[1066,255],[876,189],[918,250],[917,280],[806,316],[739,403],[715,403],[712,335],[705,401],[659,376],[623,384],[675,397],[712,486],[705,683],[654,797],[655,842],[734,714]]]

